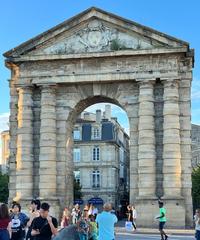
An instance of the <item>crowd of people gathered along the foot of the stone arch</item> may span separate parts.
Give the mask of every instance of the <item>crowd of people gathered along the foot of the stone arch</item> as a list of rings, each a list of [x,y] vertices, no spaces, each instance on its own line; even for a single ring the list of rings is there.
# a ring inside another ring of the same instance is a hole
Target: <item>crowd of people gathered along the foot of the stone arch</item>
[[[168,239],[164,231],[166,223],[166,209],[159,201],[159,231],[162,240]],[[21,206],[13,202],[11,209],[4,203],[0,204],[0,240],[50,240],[59,235],[58,221],[49,214],[50,205],[34,199],[30,204],[30,213],[21,211]],[[137,211],[134,205],[127,206],[127,221],[131,223],[133,231],[136,226]],[[114,226],[118,219],[111,204],[106,203],[99,213],[93,204],[85,205],[81,210],[78,204],[72,209],[65,208],[60,221],[61,229],[69,225],[76,227],[79,240],[114,240]],[[200,210],[194,216],[196,239],[200,240]]]

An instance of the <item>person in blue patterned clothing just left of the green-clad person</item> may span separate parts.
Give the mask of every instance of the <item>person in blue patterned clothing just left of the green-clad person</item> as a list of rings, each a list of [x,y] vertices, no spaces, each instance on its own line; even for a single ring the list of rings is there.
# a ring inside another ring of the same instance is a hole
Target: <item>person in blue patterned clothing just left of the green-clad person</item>
[[[77,222],[77,231],[80,240],[88,240],[89,224],[88,224],[88,210],[85,209],[83,215]]]

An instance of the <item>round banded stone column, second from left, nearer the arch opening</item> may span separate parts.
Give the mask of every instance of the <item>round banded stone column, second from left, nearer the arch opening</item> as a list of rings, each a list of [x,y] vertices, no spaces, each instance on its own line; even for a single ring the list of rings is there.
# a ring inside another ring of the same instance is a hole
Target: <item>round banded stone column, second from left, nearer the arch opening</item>
[[[56,197],[56,90],[41,87],[41,126],[39,156],[39,195],[41,199]]]

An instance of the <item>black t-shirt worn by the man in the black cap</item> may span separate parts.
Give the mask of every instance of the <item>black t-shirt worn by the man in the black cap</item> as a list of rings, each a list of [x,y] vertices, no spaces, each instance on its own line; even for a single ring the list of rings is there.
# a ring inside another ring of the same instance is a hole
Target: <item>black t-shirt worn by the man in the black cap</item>
[[[55,228],[58,227],[58,221],[52,217],[52,223]],[[40,234],[35,236],[35,240],[50,240],[52,237],[51,227],[46,218],[37,217],[33,220],[32,229],[39,230]]]

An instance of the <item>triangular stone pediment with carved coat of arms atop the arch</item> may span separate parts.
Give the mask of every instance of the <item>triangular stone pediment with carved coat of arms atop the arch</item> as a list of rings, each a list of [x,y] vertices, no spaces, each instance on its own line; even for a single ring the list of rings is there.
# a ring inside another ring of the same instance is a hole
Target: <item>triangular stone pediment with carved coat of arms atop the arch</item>
[[[188,43],[97,8],[69,19],[4,54],[76,54],[188,47]]]

